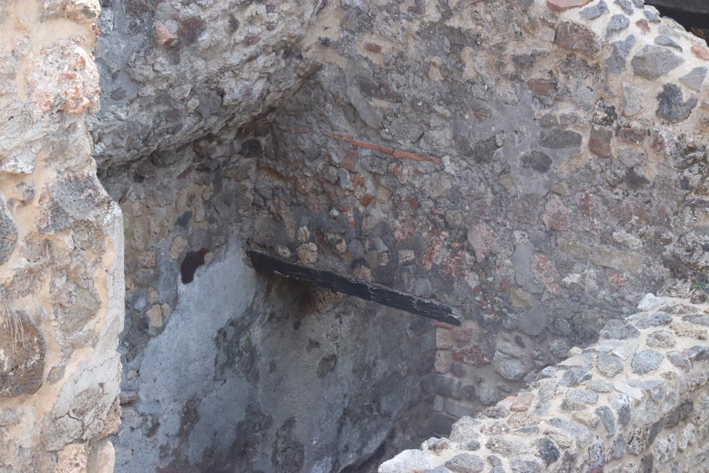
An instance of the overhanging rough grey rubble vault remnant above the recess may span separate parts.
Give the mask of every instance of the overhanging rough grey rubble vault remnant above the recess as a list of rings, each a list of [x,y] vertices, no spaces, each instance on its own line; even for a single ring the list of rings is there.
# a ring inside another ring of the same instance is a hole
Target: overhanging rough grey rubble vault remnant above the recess
[[[323,3],[103,0],[96,160],[164,159],[271,110],[313,72],[301,40]]]

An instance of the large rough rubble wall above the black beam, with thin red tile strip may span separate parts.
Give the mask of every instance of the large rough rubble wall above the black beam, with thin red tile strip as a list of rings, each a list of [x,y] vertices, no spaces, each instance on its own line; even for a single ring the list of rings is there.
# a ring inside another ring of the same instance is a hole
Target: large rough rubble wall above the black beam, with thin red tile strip
[[[328,12],[323,67],[259,138],[252,242],[457,306],[436,425],[705,277],[703,40],[642,1]]]

